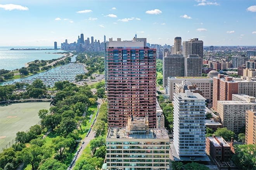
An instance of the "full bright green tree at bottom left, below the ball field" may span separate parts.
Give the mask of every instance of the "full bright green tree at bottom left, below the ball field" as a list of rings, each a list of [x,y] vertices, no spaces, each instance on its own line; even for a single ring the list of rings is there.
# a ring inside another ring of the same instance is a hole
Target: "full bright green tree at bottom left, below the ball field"
[[[37,145],[31,145],[22,150],[22,160],[32,166],[32,170],[38,169],[39,163],[42,160],[42,148]]]

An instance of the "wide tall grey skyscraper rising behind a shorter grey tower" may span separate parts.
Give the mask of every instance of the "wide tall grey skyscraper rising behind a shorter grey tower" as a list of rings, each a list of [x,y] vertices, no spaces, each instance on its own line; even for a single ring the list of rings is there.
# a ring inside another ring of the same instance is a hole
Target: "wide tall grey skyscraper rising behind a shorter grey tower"
[[[187,58],[189,55],[198,55],[199,58],[203,58],[203,46],[204,42],[198,38],[183,41],[183,56]]]

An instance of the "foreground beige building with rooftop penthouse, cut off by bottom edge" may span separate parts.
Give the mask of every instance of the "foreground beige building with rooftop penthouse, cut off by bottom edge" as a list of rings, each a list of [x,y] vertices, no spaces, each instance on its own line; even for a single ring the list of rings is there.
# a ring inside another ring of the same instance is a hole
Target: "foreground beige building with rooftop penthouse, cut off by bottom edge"
[[[126,128],[110,127],[106,138],[109,170],[169,170],[166,129],[149,129],[147,117],[128,117]]]

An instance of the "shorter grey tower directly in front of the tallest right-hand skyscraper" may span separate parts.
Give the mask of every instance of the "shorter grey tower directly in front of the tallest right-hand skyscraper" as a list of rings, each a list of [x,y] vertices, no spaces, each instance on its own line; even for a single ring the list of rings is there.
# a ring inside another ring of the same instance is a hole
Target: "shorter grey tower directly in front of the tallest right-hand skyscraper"
[[[184,61],[184,76],[202,76],[202,58],[189,55]]]

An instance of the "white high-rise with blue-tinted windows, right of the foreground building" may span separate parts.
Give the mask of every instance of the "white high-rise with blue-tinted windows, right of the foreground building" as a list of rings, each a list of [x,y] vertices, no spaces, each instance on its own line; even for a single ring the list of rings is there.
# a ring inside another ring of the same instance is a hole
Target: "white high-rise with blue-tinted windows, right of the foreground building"
[[[205,155],[205,100],[199,93],[175,93],[173,145],[178,156]]]

